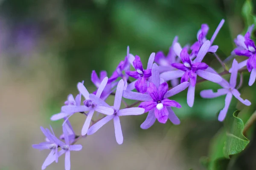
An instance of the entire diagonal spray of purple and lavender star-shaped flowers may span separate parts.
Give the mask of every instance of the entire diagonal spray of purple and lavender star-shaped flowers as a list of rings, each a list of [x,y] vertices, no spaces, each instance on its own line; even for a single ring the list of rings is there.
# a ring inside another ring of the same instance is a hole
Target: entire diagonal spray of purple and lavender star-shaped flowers
[[[175,115],[172,107],[181,108],[181,105],[169,98],[188,88],[187,104],[192,107],[198,76],[218,83],[222,87],[217,92],[210,89],[203,90],[200,93],[201,97],[214,98],[226,95],[224,108],[218,116],[219,121],[224,120],[232,96],[235,96],[244,105],[250,105],[251,103],[247,99],[244,100],[240,97],[236,88],[236,79],[238,72],[245,65],[247,65],[248,71],[251,72],[249,85],[252,85],[256,79],[256,46],[253,40],[250,39],[253,26],[248,29],[244,36],[238,35],[235,40],[237,48],[232,53],[249,58],[241,63],[238,63],[236,59],[233,60],[232,68],[229,70],[231,73],[229,83],[221,77],[223,74],[218,74],[213,68],[202,62],[207,53],[213,53],[218,57],[215,53],[218,50],[218,45],[212,44],[223,24],[224,20],[221,20],[210,40],[206,38],[209,27],[207,24],[202,24],[197,34],[197,41],[192,46],[186,45],[181,48],[178,38],[175,37],[168,55],[165,57],[161,51],[157,54],[152,53],[148,59],[147,67],[143,67],[139,56],[134,57],[130,54],[128,47],[127,55],[116,67],[110,78],[108,78],[106,71],[101,71],[99,77],[95,71],[92,71],[91,81],[96,86],[96,91],[90,93],[84,86],[84,82],[79,82],[77,84],[79,94],[75,98],[72,94],[68,95],[61,112],[51,117],[52,121],[64,120],[62,125],[63,134],[58,138],[52,129],[48,130],[41,127],[41,131],[46,136],[46,141],[34,144],[33,147],[40,150],[50,150],[42,169],[45,169],[54,161],[58,162],[58,157],[65,153],[65,169],[70,170],[70,151],[82,149],[81,145],[75,143],[84,136],[96,133],[112,119],[116,142],[122,144],[123,134],[120,116],[148,113],[145,121],[140,125],[142,129],[148,129],[156,120],[164,124],[169,119],[173,124],[179,125],[180,119]],[[221,64],[223,63],[221,62]],[[223,73],[227,74],[228,71],[224,70]],[[170,80],[171,87],[168,85]],[[113,105],[105,102],[110,95],[115,96]],[[135,100],[136,102],[127,105],[125,99]],[[125,105],[124,108],[121,107],[122,102]],[[93,120],[95,112],[102,114],[100,119]],[[68,120],[75,113],[82,113],[85,117],[84,125],[81,126],[81,135],[76,135]]]

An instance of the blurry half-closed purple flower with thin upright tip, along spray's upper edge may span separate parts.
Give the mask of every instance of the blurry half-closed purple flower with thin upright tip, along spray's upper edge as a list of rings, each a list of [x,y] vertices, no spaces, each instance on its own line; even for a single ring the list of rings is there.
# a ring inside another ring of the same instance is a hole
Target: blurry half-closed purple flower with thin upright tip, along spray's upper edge
[[[126,74],[127,71],[130,71],[130,64],[129,64],[129,56],[130,56],[130,48],[127,47],[127,55],[124,61],[121,61],[119,65],[116,67],[116,70],[113,72],[112,76],[108,79],[108,82],[111,83],[115,81],[118,77],[122,79],[128,79],[128,75]],[[123,74],[124,71],[124,74]]]

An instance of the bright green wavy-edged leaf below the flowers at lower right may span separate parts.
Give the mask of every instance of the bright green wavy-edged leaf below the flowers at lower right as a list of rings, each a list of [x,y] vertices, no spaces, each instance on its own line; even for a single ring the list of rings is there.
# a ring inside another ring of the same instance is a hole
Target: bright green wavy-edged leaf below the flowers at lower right
[[[249,140],[244,137],[243,121],[237,117],[240,111],[235,111],[233,116],[224,120],[224,127],[212,139],[209,158],[201,159],[201,163],[209,170],[226,170],[230,166],[230,158],[241,153]]]

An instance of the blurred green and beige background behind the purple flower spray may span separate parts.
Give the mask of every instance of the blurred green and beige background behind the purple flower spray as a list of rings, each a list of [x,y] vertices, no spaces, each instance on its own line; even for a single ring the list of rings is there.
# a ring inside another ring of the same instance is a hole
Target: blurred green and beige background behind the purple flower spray
[[[126,55],[137,54],[145,64],[151,52],[167,54],[175,35],[181,45],[196,41],[202,23],[208,38],[222,18],[226,20],[215,44],[221,59],[230,55],[233,39],[247,28],[241,15],[244,0],[0,0],[0,170],[39,170],[48,151],[32,148],[42,142],[40,126],[52,125],[61,134],[62,121],[51,122],[68,94],[77,94],[84,80],[92,92],[92,70],[111,76]],[[239,57],[238,60],[243,60]],[[213,55],[205,62],[223,71]],[[230,65],[228,62],[227,65]],[[228,78],[228,76],[227,76]],[[244,74],[243,98],[256,102],[255,85],[248,87]],[[224,97],[201,99],[202,89],[218,89],[212,82],[196,87],[195,105],[186,104],[186,91],[173,97],[183,106],[175,109],[178,126],[155,123],[148,130],[140,124],[146,115],[122,117],[124,143],[118,145],[109,122],[92,136],[80,140],[80,152],[71,153],[73,170],[204,170],[212,136],[223,125],[217,121]],[[109,99],[111,103],[112,99]],[[233,108],[247,119],[256,105]],[[70,118],[79,134],[84,115]],[[252,137],[253,139],[253,137]],[[232,170],[253,170],[253,142],[239,156]],[[64,157],[47,170],[63,170]]]

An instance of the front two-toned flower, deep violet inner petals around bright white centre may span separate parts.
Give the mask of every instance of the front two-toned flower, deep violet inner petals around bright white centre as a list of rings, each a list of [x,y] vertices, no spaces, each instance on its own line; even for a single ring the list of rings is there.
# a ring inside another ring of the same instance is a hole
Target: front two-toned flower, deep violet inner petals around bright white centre
[[[166,123],[169,118],[170,121],[178,125],[180,120],[177,118],[171,107],[180,108],[180,104],[168,98],[180,93],[189,86],[189,82],[183,82],[180,85],[168,91],[168,85],[163,79],[159,78],[159,69],[157,64],[152,67],[152,79],[149,83],[148,94],[140,94],[133,91],[124,91],[123,97],[126,99],[144,101],[139,107],[145,108],[148,116],[140,125],[142,129],[151,127],[157,119],[161,123]]]

